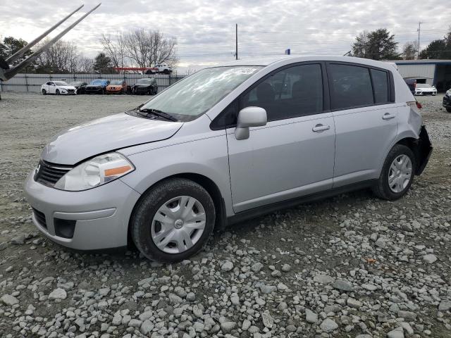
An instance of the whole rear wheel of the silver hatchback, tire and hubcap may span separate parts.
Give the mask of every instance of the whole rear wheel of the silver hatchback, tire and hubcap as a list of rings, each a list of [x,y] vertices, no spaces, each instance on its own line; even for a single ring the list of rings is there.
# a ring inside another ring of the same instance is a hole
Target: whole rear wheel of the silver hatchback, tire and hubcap
[[[415,156],[409,147],[396,144],[383,163],[381,176],[373,192],[381,199],[394,201],[407,193],[414,181]]]

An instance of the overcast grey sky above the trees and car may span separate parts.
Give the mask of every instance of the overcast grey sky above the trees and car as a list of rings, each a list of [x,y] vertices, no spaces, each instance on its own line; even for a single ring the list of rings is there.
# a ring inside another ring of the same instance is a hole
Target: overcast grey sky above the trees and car
[[[84,3],[85,13],[99,1],[1,0],[0,35],[37,37]],[[73,39],[86,56],[101,51],[102,33],[157,29],[178,39],[179,70],[233,60],[235,23],[238,55],[254,58],[283,54],[343,55],[363,30],[386,27],[400,46],[417,39],[421,47],[440,39],[451,24],[450,0],[104,0],[63,39]],[[75,16],[82,14],[75,14]],[[65,23],[68,24],[67,22]],[[55,32],[52,33],[55,35]]]

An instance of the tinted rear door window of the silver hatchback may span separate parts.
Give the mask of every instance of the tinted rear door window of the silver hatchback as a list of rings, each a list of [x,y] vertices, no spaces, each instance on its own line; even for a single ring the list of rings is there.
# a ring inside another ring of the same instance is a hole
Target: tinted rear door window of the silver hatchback
[[[330,63],[328,77],[331,109],[350,109],[374,104],[369,68]]]

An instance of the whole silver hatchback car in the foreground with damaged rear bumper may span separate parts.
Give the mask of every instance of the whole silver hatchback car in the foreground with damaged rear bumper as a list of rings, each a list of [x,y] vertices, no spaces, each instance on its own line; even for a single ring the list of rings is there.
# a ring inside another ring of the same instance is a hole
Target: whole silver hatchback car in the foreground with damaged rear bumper
[[[73,249],[181,261],[214,227],[352,189],[395,200],[432,147],[393,65],[284,57],[206,68],[142,106],[56,135],[25,183]]]

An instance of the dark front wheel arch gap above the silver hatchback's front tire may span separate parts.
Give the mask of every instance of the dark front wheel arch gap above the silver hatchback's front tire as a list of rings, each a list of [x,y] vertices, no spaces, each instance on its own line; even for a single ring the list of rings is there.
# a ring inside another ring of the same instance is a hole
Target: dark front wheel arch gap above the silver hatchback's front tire
[[[170,175],[168,177],[164,177],[161,180],[154,182],[150,187],[148,187],[141,195],[140,199],[138,199],[135,203],[135,206],[133,206],[132,213],[130,213],[130,218],[128,220],[128,229],[127,229],[127,242],[128,246],[134,246],[135,244],[132,241],[132,236],[130,233],[131,230],[131,222],[132,222],[132,216],[135,213],[135,209],[137,208],[138,204],[140,204],[140,201],[144,198],[144,195],[150,190],[153,189],[156,184],[159,184],[166,180],[171,180],[173,178],[185,178],[186,180],[191,180],[193,182],[196,182],[200,186],[202,186],[206,192],[209,193],[211,196],[211,199],[213,199],[214,208],[216,212],[216,220],[215,220],[215,229],[223,230],[224,227],[226,227],[226,205],[223,199],[223,196],[221,194],[221,190],[216,185],[216,183],[211,180],[211,178],[206,177],[205,175],[199,174],[199,173],[178,173],[174,175]]]

